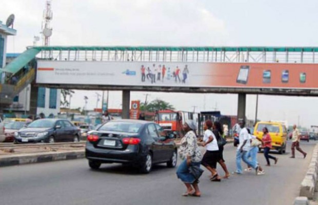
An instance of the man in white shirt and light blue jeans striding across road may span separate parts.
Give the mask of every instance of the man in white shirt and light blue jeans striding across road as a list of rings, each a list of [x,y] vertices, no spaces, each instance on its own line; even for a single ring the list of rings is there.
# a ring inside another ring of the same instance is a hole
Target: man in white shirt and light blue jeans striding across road
[[[242,174],[242,165],[241,165],[241,160],[243,159],[243,161],[250,167],[255,169],[255,174],[257,175],[259,172],[259,166],[257,166],[257,164],[255,162],[252,162],[251,160],[248,159],[248,151],[250,149],[250,140],[249,140],[249,135],[248,135],[248,131],[245,128],[245,121],[241,120],[238,123],[241,127],[241,131],[240,131],[240,135],[239,140],[240,140],[240,144],[238,144],[237,146],[237,150],[236,150],[236,174]]]

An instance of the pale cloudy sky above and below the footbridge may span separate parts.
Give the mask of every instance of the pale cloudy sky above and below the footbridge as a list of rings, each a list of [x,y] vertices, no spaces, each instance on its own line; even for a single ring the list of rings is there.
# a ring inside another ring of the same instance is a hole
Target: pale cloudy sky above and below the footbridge
[[[41,35],[44,0],[2,1],[0,20],[15,14],[17,35],[7,51],[23,52]],[[53,35],[60,46],[318,46],[318,1],[283,0],[53,0]],[[41,45],[41,42],[37,43]],[[71,107],[96,106],[96,92],[75,91]],[[121,107],[121,92],[109,92],[109,108]],[[235,94],[131,92],[131,99],[160,98],[177,110],[237,114]],[[204,97],[205,96],[205,97]],[[246,115],[255,118],[255,95]],[[258,118],[318,125],[318,98],[261,95]],[[98,106],[101,107],[101,101]]]

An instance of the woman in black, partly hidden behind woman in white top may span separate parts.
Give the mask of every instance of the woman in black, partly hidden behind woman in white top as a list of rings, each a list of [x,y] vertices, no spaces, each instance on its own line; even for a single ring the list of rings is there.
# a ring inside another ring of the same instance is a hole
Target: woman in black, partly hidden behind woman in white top
[[[215,121],[213,123],[213,134],[215,135],[217,141],[219,141],[221,137],[224,137],[223,127],[219,121]],[[225,160],[223,158],[223,150],[224,150],[224,147],[222,145],[219,145],[218,151],[220,154],[220,158],[218,159],[217,162],[220,163],[222,169],[225,172],[225,175],[222,178],[228,179],[230,177],[230,172],[228,171],[225,164]]]

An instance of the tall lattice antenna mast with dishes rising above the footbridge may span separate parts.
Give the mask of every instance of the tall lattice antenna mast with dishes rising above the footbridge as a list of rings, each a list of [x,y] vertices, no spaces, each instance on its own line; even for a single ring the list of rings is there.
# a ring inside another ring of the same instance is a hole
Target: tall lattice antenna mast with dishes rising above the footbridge
[[[53,12],[51,10],[51,5],[52,0],[47,0],[46,8],[43,11],[42,35],[44,39],[44,46],[50,45],[50,37],[52,35],[52,28],[50,27],[50,23],[53,18]]]

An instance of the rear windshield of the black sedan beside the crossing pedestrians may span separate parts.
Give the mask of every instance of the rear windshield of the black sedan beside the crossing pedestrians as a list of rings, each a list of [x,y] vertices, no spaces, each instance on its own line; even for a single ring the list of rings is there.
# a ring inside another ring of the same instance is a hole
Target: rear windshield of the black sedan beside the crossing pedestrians
[[[98,128],[98,131],[138,133],[142,124],[134,122],[110,121]]]

